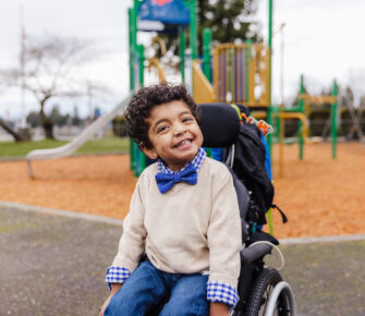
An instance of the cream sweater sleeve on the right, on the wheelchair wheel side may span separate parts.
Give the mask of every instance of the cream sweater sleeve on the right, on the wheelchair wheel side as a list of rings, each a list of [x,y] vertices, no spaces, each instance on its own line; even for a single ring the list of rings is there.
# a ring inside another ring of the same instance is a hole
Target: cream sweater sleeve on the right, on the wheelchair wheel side
[[[242,247],[241,220],[232,175],[224,171],[211,183],[212,210],[207,231],[210,265],[208,285],[223,284],[236,293]]]

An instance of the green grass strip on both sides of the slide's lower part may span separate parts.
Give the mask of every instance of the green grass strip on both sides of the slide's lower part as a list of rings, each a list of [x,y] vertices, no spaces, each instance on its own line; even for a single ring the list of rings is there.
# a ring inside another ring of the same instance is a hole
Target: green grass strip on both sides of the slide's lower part
[[[44,139],[38,142],[0,142],[0,158],[25,157],[26,154],[34,149],[48,149],[60,147],[69,142]],[[113,153],[129,153],[129,138],[106,138],[93,139],[86,142],[76,155],[92,155],[92,154],[113,154]]]

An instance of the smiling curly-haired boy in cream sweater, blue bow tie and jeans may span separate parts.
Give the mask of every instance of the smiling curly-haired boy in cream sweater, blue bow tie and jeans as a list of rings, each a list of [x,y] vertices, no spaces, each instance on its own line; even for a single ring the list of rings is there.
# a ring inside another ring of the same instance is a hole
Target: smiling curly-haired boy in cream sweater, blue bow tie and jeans
[[[160,315],[229,315],[238,302],[239,206],[230,172],[200,148],[198,108],[183,86],[163,83],[142,88],[126,120],[158,161],[136,184],[100,315],[145,315],[166,295]]]

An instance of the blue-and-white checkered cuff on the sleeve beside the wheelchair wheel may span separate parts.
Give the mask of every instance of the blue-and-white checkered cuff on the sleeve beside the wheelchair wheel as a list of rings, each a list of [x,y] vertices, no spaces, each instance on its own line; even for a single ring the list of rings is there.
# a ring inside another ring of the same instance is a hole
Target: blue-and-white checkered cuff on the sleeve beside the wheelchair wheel
[[[220,302],[234,307],[239,302],[239,294],[238,291],[229,284],[209,281],[207,299],[212,303]]]

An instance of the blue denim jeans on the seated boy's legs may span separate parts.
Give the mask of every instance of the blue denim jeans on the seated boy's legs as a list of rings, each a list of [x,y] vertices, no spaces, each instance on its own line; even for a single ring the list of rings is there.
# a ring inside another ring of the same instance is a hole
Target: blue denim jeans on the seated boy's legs
[[[206,316],[208,276],[168,274],[144,262],[112,296],[105,316],[139,316],[156,308],[171,295],[159,315]]]

